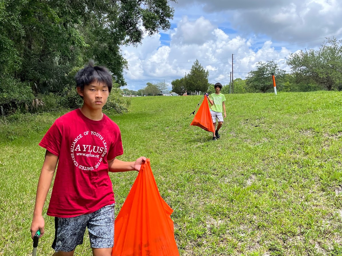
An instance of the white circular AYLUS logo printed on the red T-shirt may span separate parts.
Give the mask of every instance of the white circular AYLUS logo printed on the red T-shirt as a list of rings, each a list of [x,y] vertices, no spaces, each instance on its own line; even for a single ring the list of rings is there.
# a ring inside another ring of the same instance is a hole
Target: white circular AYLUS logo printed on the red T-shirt
[[[94,146],[94,145],[87,145],[87,144],[81,144],[79,143],[79,140],[83,137],[86,136],[95,136],[97,138],[99,138],[102,143],[103,146]],[[83,134],[79,134],[75,140],[71,143],[71,148],[70,148],[70,152],[71,152],[71,158],[73,159],[74,165],[76,167],[78,167],[81,170],[87,170],[87,171],[92,171],[94,169],[97,169],[102,160],[103,157],[107,154],[107,142],[104,140],[104,138],[101,136],[100,133],[98,132],[94,132],[94,131],[85,131],[83,132]],[[79,152],[87,152],[87,153],[79,153]],[[97,158],[98,161],[96,163],[95,166],[83,166],[80,165],[80,163],[76,160],[75,158],[76,156],[85,156],[85,157],[94,157]]]

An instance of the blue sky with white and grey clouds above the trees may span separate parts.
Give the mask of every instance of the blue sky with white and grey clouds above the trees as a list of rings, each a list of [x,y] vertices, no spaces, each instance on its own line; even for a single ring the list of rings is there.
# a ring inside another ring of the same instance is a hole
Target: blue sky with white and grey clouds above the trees
[[[338,0],[182,0],[171,29],[145,36],[138,47],[124,46],[126,88],[171,81],[190,71],[196,59],[209,70],[209,82],[244,79],[258,61],[274,60],[290,71],[285,58],[301,49],[318,49],[325,37],[341,39],[342,1]]]

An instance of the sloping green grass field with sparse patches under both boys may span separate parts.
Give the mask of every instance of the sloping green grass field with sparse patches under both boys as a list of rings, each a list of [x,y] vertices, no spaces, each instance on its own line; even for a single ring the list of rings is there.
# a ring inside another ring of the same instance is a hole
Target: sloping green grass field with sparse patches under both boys
[[[342,255],[342,93],[226,95],[218,141],[189,126],[200,98],[132,98],[129,113],[110,116],[119,159],[150,158],[180,255]],[[0,255],[32,252],[37,144],[62,114],[1,121]],[[136,172],[110,176],[118,213]],[[39,256],[53,253],[53,221]],[[75,255],[91,255],[87,237]]]

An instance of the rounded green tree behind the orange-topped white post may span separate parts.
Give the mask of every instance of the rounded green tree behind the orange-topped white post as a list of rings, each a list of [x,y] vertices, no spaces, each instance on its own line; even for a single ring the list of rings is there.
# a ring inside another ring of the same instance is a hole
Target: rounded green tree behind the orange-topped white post
[[[273,88],[272,74],[274,74],[276,77],[277,87],[280,87],[279,89],[281,89],[283,86],[285,70],[279,69],[279,65],[273,60],[267,62],[258,62],[257,69],[248,73],[246,85],[255,92],[266,93],[266,91]]]

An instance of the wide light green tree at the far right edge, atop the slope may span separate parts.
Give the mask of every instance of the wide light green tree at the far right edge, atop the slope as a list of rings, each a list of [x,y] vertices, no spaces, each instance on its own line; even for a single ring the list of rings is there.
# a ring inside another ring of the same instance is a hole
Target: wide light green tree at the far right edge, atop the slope
[[[342,83],[342,40],[328,39],[318,51],[293,53],[286,63],[300,82],[311,80],[328,90],[337,89]]]

